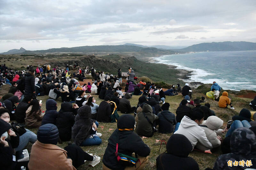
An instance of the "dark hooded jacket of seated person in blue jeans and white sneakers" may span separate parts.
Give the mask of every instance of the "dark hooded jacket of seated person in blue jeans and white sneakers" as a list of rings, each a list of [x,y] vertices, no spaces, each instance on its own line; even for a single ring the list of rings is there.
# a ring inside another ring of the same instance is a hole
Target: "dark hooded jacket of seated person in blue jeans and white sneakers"
[[[89,135],[92,129],[91,107],[84,105],[77,111],[75,117],[75,124],[72,127],[72,139],[76,145],[80,145]]]

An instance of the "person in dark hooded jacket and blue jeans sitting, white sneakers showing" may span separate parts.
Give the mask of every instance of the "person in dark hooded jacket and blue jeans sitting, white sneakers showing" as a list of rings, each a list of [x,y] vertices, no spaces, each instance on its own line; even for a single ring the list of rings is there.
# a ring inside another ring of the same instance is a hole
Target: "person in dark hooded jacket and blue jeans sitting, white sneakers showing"
[[[77,111],[75,124],[72,127],[72,139],[78,146],[101,144],[101,133],[97,133],[99,123],[91,119],[91,107],[84,105]]]

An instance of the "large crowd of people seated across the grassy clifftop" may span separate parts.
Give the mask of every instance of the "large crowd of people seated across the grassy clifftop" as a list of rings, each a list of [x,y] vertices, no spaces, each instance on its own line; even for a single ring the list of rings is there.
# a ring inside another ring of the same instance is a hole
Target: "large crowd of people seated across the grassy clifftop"
[[[156,132],[173,132],[166,152],[156,159],[157,169],[199,169],[196,160],[188,154],[194,148],[214,151],[217,147],[221,147],[223,154],[213,169],[231,169],[230,160],[256,167],[256,114],[244,108],[232,117],[232,124],[221,129],[223,120],[210,109],[203,96],[201,100],[192,100],[188,83],[183,88],[177,84],[164,91],[153,82],[137,81],[131,67],[127,71],[127,81],[122,81],[121,69],[113,75],[89,66],[82,69],[78,63],[72,68],[66,65],[65,69],[57,66],[51,69],[49,64],[34,69],[29,65],[26,71],[13,71],[4,64],[0,70],[1,85],[10,85],[8,93],[0,100],[0,162],[4,169],[20,169],[21,166],[76,169],[86,160],[95,166],[101,158],[84,152],[80,146],[102,143],[102,134],[97,132],[100,122],[117,122],[117,129],[109,137],[102,158],[104,170],[143,169],[152,148],[141,137],[152,137]],[[92,83],[80,86],[79,81],[83,82],[86,75],[92,76]],[[228,92],[222,92],[219,97],[221,90],[213,82],[206,96],[218,102],[220,108],[234,109]],[[45,112],[41,110],[42,101],[37,100],[37,96],[44,95],[49,97]],[[103,100],[99,105],[96,95]],[[130,103],[134,95],[140,96],[137,106]],[[165,102],[166,96],[175,95],[183,96],[176,115],[169,111],[170,103]],[[60,109],[58,98],[62,101]],[[255,109],[255,101],[256,96],[250,103],[252,109]],[[117,111],[123,115],[119,117]],[[10,121],[15,125],[9,124]],[[23,130],[17,130],[17,126]],[[38,129],[37,134],[28,128]],[[68,146],[57,146],[64,141],[68,141]],[[30,159],[20,162],[17,160],[19,151],[28,143],[33,144]],[[15,153],[16,159],[13,159]],[[244,167],[239,165],[236,169]]]

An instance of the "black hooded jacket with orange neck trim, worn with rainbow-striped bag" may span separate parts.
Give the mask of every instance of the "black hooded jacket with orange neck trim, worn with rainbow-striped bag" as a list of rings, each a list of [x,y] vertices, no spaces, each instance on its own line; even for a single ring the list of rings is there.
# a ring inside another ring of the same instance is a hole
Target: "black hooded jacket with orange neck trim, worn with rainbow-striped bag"
[[[117,161],[115,155],[117,143],[119,153],[132,156],[132,153],[135,152],[142,157],[149,155],[150,148],[148,145],[133,132],[134,123],[135,120],[132,115],[122,115],[118,118],[117,129],[108,138],[108,146],[102,159],[103,164],[108,168],[112,170],[123,170],[127,166],[126,164],[122,164],[121,161]]]

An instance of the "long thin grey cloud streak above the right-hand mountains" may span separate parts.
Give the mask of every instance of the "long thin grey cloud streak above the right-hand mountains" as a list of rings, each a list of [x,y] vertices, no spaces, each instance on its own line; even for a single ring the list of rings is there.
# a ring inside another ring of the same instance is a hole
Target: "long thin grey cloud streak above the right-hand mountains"
[[[203,27],[201,26],[182,26],[178,28],[169,28],[165,30],[155,31],[155,32],[152,32],[152,34],[193,32],[193,31],[198,31],[202,29]]]

